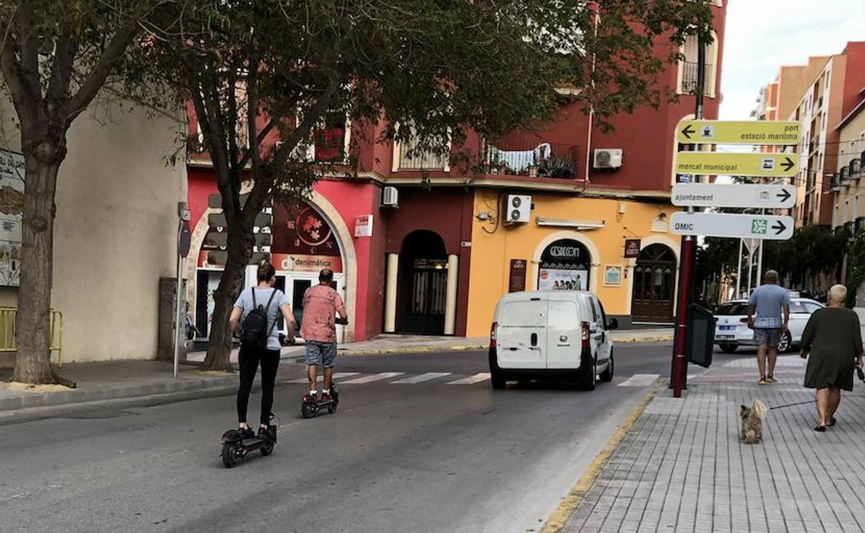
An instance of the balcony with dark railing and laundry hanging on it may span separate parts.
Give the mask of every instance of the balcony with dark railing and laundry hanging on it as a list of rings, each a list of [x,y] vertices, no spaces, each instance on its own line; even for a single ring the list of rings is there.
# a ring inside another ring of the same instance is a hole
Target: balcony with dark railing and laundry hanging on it
[[[575,180],[580,149],[573,144],[529,141],[487,141],[483,149],[486,174]]]

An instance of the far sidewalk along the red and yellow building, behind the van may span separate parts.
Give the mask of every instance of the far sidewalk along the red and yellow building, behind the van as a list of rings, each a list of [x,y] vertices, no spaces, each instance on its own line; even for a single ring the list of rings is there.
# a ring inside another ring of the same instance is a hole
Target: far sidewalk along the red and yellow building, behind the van
[[[673,339],[673,329],[632,329],[613,331],[610,333],[613,342],[663,342]],[[489,337],[435,337],[429,335],[397,335],[382,334],[375,339],[362,342],[350,342],[338,347],[339,355],[384,355],[389,353],[421,353],[421,352],[461,352],[465,350],[486,350],[490,346]],[[282,358],[300,358],[304,355],[304,346],[285,346]],[[189,361],[203,361],[205,352],[191,352]],[[237,362],[237,350],[231,354],[231,360]]]

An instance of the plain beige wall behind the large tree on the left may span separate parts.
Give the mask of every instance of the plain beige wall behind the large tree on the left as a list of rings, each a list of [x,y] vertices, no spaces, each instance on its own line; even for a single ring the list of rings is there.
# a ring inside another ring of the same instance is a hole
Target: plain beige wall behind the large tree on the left
[[[0,105],[0,146],[18,150],[15,113]],[[94,109],[69,130],[57,186],[52,307],[65,318],[63,360],[153,359],[158,282],[176,276],[177,202],[186,200],[183,157],[166,162],[183,114]],[[0,304],[15,293],[0,288]]]

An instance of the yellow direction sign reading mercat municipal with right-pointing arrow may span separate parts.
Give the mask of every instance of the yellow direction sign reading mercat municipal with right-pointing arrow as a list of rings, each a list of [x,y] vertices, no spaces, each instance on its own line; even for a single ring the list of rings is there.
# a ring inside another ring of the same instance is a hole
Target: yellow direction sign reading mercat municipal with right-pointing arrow
[[[721,152],[679,152],[676,174],[733,175],[791,178],[799,171],[795,154],[731,154]]]

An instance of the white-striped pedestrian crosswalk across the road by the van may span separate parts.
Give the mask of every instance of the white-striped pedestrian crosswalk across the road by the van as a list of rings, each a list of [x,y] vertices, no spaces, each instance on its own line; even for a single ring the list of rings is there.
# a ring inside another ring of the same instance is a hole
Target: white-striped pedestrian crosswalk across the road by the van
[[[630,377],[617,377],[613,383],[619,387],[649,387],[655,384],[659,374],[633,374]],[[458,374],[454,372],[334,372],[333,380],[341,385],[363,384],[445,384],[445,385],[475,385],[490,380],[490,372],[475,374]],[[322,382],[319,372],[318,382]],[[306,378],[290,379],[290,384],[305,384]]]

